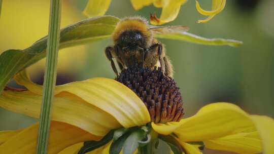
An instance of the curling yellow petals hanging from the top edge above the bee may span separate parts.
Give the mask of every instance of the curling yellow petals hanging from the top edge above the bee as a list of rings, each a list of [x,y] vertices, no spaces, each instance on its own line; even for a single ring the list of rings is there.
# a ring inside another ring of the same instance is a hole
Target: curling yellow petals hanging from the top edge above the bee
[[[145,6],[153,4],[156,8],[162,8],[162,13],[160,18],[157,18],[156,15],[150,16],[150,22],[154,25],[164,24],[176,19],[179,14],[180,8],[184,5],[187,0],[130,0],[133,8],[135,10],[140,10]],[[220,13],[225,7],[226,0],[212,0],[212,11],[205,11],[201,9],[198,1],[196,0],[196,9],[197,11],[205,16],[209,16],[205,20],[198,20],[197,23],[208,22],[216,14]],[[88,17],[101,16],[104,15],[109,6],[111,0],[89,0],[83,14]]]

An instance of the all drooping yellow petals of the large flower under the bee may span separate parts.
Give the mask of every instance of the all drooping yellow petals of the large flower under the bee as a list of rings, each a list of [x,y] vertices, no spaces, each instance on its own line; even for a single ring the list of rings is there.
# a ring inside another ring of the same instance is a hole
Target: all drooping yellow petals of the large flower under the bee
[[[42,87],[29,80],[25,71],[15,76],[28,90],[5,90],[0,106],[38,118]],[[212,103],[179,122],[151,122],[145,103],[123,84],[106,78],[93,78],[56,86],[48,153],[77,153],[84,141],[100,140],[118,128],[151,123],[160,137],[179,143],[186,154],[206,148],[237,153],[274,153],[274,120],[250,115],[230,103]],[[1,153],[35,153],[38,124],[17,131],[0,132]],[[108,153],[111,144],[89,153]]]

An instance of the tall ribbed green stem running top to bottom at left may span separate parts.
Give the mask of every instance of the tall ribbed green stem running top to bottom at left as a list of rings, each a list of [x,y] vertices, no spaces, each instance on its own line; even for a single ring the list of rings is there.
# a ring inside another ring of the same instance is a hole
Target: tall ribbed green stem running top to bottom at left
[[[46,70],[41,105],[37,153],[47,153],[50,129],[51,102],[56,84],[56,66],[60,38],[61,0],[51,0]]]

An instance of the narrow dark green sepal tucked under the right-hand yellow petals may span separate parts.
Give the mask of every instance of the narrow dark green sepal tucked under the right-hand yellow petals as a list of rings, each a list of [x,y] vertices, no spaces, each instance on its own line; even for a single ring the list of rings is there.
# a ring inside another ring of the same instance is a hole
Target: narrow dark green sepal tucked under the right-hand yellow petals
[[[163,140],[164,142],[166,142],[169,145],[169,147],[172,149],[174,154],[184,153],[183,147],[173,136],[159,135],[158,137],[159,137],[159,139]]]

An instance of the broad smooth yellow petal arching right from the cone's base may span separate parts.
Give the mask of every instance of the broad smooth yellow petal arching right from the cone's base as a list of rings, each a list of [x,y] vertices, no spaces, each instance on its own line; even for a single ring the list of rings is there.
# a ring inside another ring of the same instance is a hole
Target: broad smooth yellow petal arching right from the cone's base
[[[254,129],[249,115],[230,103],[213,103],[202,107],[190,118],[166,125],[152,124],[160,134],[176,133],[181,141],[203,141]]]

